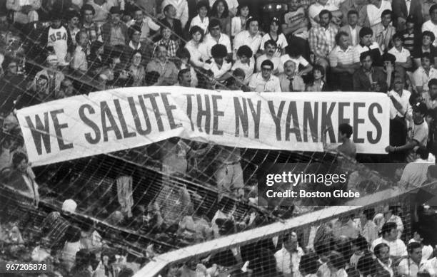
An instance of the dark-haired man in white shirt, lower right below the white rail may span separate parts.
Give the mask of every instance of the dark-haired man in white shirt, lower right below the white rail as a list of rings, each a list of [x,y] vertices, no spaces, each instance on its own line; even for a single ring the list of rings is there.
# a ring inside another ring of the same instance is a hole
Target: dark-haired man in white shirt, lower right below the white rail
[[[373,251],[375,255],[377,255],[376,252],[378,252],[378,255],[381,254],[381,246],[378,247],[378,251],[375,251],[376,246],[381,243],[388,246],[387,250],[389,251],[389,256],[393,259],[393,262],[395,263],[396,261],[398,261],[399,258],[407,255],[407,249],[405,244],[403,243],[403,241],[398,239],[396,223],[386,222],[385,224],[383,224],[381,234],[382,236],[374,240],[371,245],[371,251]],[[387,262],[387,260],[385,262]]]

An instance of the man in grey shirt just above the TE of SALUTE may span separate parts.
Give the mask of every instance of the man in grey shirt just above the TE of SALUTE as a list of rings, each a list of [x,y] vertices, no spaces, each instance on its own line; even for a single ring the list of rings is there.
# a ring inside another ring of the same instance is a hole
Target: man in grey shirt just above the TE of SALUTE
[[[146,72],[156,71],[159,79],[156,85],[174,85],[176,83],[178,69],[173,62],[169,61],[167,49],[157,46],[154,50],[154,59],[149,62]]]

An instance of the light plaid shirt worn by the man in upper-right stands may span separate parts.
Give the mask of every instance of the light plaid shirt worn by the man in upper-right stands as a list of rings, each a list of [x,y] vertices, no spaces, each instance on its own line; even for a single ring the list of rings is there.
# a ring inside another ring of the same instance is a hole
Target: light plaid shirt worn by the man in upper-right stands
[[[328,31],[329,36],[326,36]],[[318,58],[328,58],[329,51],[331,51],[336,46],[336,34],[338,33],[338,28],[335,26],[329,26],[328,30],[321,26],[315,26],[311,28],[309,33],[309,45],[311,51]]]

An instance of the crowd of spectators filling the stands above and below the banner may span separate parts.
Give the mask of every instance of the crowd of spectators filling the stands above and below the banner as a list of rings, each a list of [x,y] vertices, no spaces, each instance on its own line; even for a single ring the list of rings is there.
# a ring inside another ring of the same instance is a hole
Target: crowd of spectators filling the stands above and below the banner
[[[262,9],[243,0],[0,0],[1,181],[31,199],[28,207],[39,207],[41,190],[49,188],[36,182],[14,111],[84,93],[81,84],[91,82],[96,88],[386,93],[391,99],[390,145],[382,160],[408,162],[393,171],[398,187],[418,189],[436,182],[437,4],[289,0],[286,7],[281,16],[265,20]],[[29,41],[34,34],[37,38]],[[34,48],[40,51],[30,56]],[[39,70],[30,73],[29,63]],[[351,125],[338,129],[341,145],[325,145],[326,150],[360,160]],[[195,244],[263,221],[255,209],[238,217],[236,206],[226,204],[229,198],[253,206],[263,201],[256,184],[247,184],[240,149],[172,138],[159,150],[164,178],[154,202],[134,204],[132,178],[121,176],[114,182],[120,209],[106,214],[109,224],[154,239],[171,241],[169,234],[174,234]],[[207,164],[218,194],[212,219],[197,209],[202,197],[174,181],[205,172],[208,157],[214,157]],[[348,189],[375,192],[368,189],[370,183],[387,185],[369,180],[369,174],[362,167],[353,170]],[[376,215],[366,210],[312,226],[306,247],[291,232],[167,268],[167,276],[192,276],[194,271],[216,276],[238,263],[244,266],[235,276],[437,276],[436,207],[423,200],[413,207],[414,236],[404,234],[396,209]],[[112,253],[94,228],[63,217],[75,209],[74,200],[66,200],[62,214],[48,214],[33,236],[21,234],[29,216],[2,218],[0,241],[16,258],[26,253],[26,241],[37,241],[29,261],[50,260],[64,276],[130,276],[139,270],[144,261]],[[289,210],[280,209],[275,211],[287,217]],[[153,247],[148,253],[154,254]]]

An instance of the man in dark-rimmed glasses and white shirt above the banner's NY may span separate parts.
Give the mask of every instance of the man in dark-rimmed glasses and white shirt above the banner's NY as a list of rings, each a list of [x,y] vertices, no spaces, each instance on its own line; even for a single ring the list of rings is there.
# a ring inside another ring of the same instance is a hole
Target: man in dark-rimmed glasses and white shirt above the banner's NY
[[[271,61],[263,61],[261,63],[261,73],[252,75],[249,88],[258,93],[266,92],[281,92],[281,84],[278,77],[272,75],[273,63]]]

